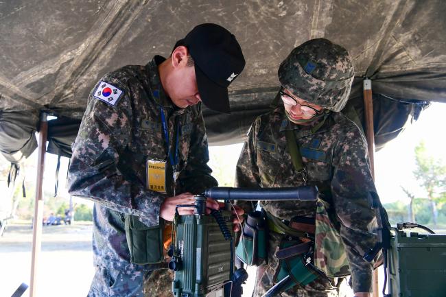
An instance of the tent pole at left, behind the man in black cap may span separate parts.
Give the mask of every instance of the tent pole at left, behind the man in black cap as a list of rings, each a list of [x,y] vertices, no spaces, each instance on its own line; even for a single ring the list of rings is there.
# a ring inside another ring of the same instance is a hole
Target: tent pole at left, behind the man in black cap
[[[45,152],[47,150],[48,122],[47,114],[40,115],[40,130],[38,133],[38,161],[36,180],[36,204],[34,205],[34,220],[32,233],[32,255],[31,255],[31,283],[30,297],[36,296],[37,269],[40,248],[42,246],[42,224],[43,224],[43,170],[45,168]]]

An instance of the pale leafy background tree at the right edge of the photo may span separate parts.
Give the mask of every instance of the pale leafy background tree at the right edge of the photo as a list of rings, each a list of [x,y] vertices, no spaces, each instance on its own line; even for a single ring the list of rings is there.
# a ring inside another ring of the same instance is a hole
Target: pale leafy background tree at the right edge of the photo
[[[446,191],[446,165],[443,160],[430,156],[426,150],[425,143],[421,141],[415,147],[416,169],[414,176],[426,191],[427,199],[430,201],[432,221],[434,226],[438,223],[437,202]]]

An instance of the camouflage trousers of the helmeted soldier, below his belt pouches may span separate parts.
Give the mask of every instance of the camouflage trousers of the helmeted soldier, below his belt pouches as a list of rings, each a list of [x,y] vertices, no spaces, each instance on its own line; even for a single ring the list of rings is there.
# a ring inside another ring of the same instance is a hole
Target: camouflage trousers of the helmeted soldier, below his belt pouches
[[[275,256],[277,246],[283,235],[270,232],[268,240],[268,265],[257,268],[253,297],[262,296],[274,283],[274,275],[279,268],[279,261]],[[271,252],[272,251],[272,252]],[[283,297],[346,297],[349,290],[345,278],[316,278],[315,281],[302,287],[295,285],[291,289],[281,293]]]

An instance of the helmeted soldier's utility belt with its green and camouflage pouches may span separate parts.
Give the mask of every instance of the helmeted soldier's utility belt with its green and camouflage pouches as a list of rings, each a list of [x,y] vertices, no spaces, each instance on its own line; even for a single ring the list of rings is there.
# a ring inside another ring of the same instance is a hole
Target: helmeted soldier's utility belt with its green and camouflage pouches
[[[297,284],[305,286],[319,277],[350,274],[338,227],[331,222],[333,218],[328,209],[329,204],[318,199],[314,218],[296,217],[283,221],[266,211],[249,213],[237,245],[237,257],[247,265],[266,264],[268,230],[282,235],[274,251],[279,261],[274,282],[283,282],[281,292]]]

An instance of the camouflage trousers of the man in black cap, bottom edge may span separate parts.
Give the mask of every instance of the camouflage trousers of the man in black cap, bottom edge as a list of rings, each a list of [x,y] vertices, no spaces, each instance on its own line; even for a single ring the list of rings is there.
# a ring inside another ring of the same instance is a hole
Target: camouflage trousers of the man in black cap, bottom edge
[[[88,297],[173,297],[173,279],[165,268],[141,272],[97,266]]]

